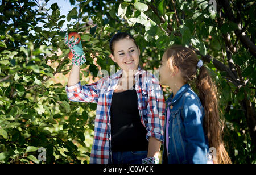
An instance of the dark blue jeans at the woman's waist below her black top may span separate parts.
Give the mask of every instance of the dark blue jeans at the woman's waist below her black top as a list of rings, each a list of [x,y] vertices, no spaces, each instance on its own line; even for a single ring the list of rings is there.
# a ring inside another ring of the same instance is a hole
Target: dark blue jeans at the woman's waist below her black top
[[[117,151],[112,152],[113,164],[142,164],[147,157],[147,151]]]

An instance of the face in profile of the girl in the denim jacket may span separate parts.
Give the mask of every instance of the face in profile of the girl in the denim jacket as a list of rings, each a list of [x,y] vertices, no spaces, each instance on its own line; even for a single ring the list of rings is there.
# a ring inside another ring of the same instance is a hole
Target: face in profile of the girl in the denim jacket
[[[161,66],[159,68],[159,83],[161,85],[169,85],[170,82],[172,82],[172,79],[174,76],[172,75],[174,73],[173,67],[171,63],[171,59],[169,61],[167,60],[166,53],[164,53],[161,61]]]

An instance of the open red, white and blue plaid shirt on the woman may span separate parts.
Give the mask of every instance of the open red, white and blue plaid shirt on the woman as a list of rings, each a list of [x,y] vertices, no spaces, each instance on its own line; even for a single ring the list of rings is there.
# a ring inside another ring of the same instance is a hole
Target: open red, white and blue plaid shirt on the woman
[[[93,84],[82,86],[79,82],[65,87],[70,101],[97,103],[90,163],[109,163],[109,156],[111,156],[110,106],[113,91],[120,77],[122,77],[122,70],[103,77]],[[139,67],[135,73],[135,90],[141,122],[147,129],[147,140],[149,137],[155,137],[163,141],[165,102],[158,80]]]

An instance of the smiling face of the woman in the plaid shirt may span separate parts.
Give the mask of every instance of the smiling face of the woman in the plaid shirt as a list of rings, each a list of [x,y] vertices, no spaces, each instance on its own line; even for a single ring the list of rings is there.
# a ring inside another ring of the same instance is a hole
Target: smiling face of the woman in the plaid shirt
[[[110,55],[111,59],[118,66],[125,70],[138,69],[140,51],[135,43],[130,39],[121,39],[114,43],[114,55]]]

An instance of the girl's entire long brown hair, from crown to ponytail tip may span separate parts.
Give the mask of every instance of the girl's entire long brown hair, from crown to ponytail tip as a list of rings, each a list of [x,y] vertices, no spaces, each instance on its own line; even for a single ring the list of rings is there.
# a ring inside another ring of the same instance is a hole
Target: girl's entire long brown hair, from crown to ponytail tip
[[[196,53],[183,46],[172,46],[166,50],[167,59],[172,59],[172,65],[181,70],[185,83],[195,81],[198,96],[204,107],[204,131],[209,141],[209,147],[216,148],[217,163],[231,163],[228,152],[222,141],[222,120],[218,108],[218,91],[207,68],[197,68],[199,59]]]

